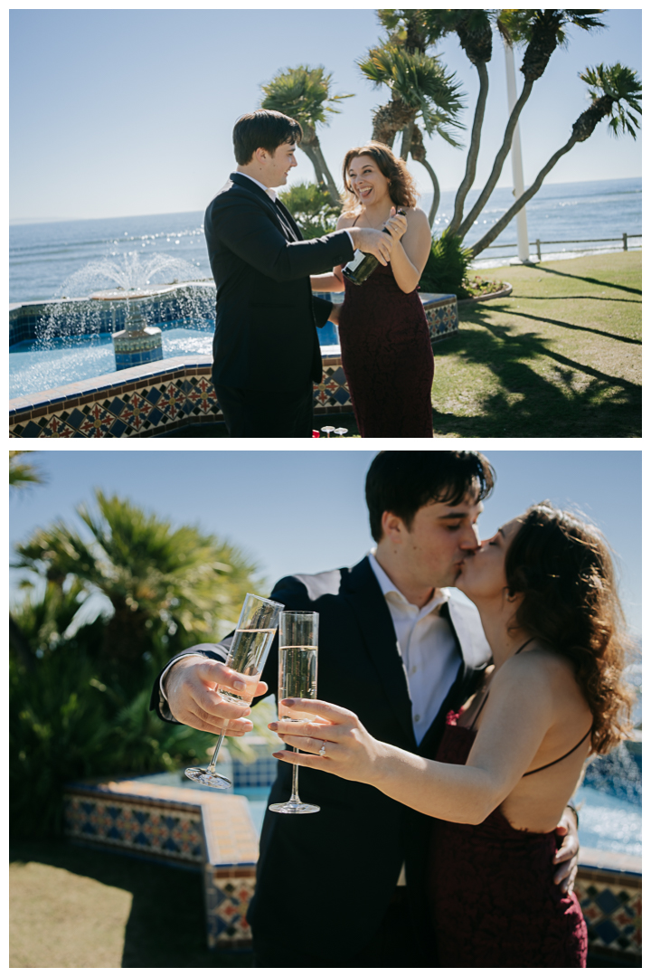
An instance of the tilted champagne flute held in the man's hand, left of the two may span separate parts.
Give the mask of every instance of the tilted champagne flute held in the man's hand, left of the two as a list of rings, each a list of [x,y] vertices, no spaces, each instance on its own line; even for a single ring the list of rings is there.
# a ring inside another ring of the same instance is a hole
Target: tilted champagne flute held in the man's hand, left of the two
[[[264,661],[273,642],[277,627],[278,616],[284,604],[247,594],[242,605],[233,641],[230,646],[226,665],[244,677],[246,688],[237,695],[229,689],[219,689],[220,696],[228,702],[246,702],[253,700],[258,688],[260,676],[264,668]],[[230,781],[215,769],[220,747],[224,740],[224,733],[215,746],[213,759],[207,767],[188,767],[185,777],[199,784],[217,787],[224,790],[230,786]]]

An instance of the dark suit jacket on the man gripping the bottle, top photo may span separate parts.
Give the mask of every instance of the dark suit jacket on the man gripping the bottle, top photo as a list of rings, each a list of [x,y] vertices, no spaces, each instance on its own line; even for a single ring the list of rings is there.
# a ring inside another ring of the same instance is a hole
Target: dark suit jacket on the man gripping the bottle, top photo
[[[304,241],[287,208],[241,173],[208,205],[204,228],[217,284],[213,382],[297,392],[320,383],[315,327],[332,305],[312,297],[309,276],[349,261],[348,234]]]

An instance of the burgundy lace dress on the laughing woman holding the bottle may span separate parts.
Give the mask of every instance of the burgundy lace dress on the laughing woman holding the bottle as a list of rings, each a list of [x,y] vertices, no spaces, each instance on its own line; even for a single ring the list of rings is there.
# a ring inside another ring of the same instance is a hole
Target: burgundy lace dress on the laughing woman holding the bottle
[[[390,265],[346,281],[339,335],[362,438],[431,438],[434,358],[418,292],[403,292]]]

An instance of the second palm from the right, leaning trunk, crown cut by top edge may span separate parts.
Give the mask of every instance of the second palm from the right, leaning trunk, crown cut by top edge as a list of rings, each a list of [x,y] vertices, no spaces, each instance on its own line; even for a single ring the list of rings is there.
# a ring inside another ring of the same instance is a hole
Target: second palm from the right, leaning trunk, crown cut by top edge
[[[595,16],[601,13],[603,13],[601,10],[509,10],[501,12],[500,24],[505,37],[513,43],[527,42],[520,68],[524,74],[524,84],[509,115],[504,140],[495,157],[490,176],[466,217],[458,226],[455,226],[455,233],[460,238],[463,239],[468,234],[474,221],[488,202],[491,193],[495,190],[502,168],[509,155],[517,120],[531,95],[534,82],[542,77],[555,49],[565,43],[568,25],[573,24],[582,30],[603,27],[603,22]]]

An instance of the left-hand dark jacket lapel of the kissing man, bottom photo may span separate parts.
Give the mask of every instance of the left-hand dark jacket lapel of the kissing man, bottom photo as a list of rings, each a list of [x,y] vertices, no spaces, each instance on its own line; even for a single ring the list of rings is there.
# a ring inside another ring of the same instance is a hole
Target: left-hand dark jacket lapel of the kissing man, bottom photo
[[[359,621],[366,651],[380,676],[387,699],[393,706],[403,732],[415,747],[407,676],[397,648],[387,601],[368,558],[346,573],[342,580],[342,594]]]

